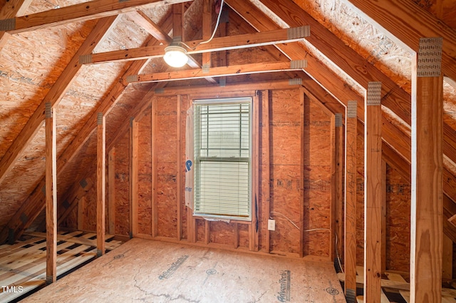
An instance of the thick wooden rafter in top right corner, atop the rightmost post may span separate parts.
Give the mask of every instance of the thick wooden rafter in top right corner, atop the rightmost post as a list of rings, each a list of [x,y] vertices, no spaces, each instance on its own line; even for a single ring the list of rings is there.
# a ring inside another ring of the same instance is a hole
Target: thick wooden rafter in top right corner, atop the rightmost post
[[[456,30],[410,0],[349,0],[361,14],[393,34],[396,43],[418,51],[423,37],[442,37],[442,71],[456,80]]]

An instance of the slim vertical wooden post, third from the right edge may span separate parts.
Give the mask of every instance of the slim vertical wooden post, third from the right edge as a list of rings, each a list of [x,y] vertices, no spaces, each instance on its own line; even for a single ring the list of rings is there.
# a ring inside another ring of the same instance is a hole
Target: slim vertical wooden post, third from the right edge
[[[345,295],[356,302],[356,101],[348,101],[345,122]]]

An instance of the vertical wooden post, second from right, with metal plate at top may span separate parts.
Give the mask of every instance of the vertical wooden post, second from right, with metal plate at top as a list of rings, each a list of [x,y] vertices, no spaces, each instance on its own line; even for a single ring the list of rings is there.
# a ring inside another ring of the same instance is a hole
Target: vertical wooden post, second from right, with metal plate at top
[[[369,82],[364,124],[364,299],[380,303],[381,279],[381,82]]]

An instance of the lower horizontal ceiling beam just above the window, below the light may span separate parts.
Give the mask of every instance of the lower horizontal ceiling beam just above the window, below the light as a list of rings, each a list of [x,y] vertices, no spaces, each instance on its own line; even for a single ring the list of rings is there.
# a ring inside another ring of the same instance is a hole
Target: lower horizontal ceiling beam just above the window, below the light
[[[306,61],[300,62],[265,62],[265,63],[251,63],[233,66],[219,66],[209,68],[207,71],[204,69],[189,69],[185,71],[170,71],[164,73],[150,73],[147,75],[129,76],[128,79],[136,78],[130,83],[141,82],[162,82],[162,81],[181,81],[197,78],[222,77],[222,76],[237,76],[245,75],[247,73],[272,73],[280,71],[300,71],[304,68]]]

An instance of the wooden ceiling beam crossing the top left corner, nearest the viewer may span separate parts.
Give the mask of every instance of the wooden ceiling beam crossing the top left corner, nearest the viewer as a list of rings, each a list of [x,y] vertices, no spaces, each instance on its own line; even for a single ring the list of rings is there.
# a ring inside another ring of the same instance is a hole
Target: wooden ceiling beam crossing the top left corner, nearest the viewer
[[[150,8],[187,1],[192,0],[94,0],[65,6],[60,9],[53,9],[51,11],[42,11],[27,16],[1,19],[0,31],[7,31],[9,34],[17,34],[36,29],[46,29],[61,24],[117,16],[118,14],[135,11],[140,6],[147,6]]]

